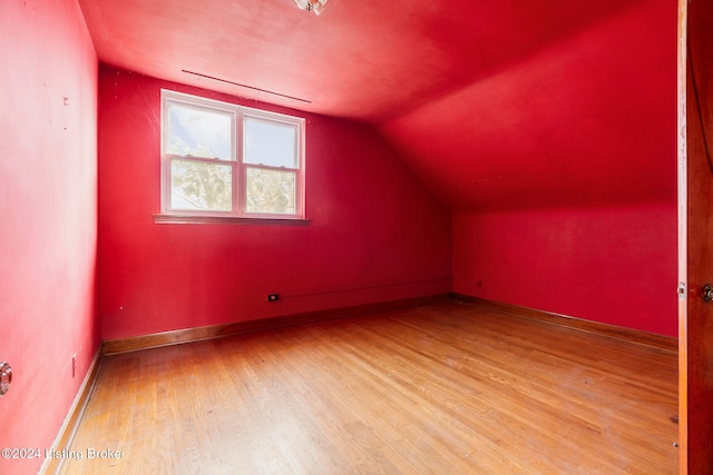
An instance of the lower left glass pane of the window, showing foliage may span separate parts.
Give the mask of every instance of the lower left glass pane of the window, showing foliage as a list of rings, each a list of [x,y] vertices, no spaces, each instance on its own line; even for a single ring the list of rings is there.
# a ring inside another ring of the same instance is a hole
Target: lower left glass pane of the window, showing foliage
[[[233,209],[233,167],[205,161],[170,162],[170,209]]]

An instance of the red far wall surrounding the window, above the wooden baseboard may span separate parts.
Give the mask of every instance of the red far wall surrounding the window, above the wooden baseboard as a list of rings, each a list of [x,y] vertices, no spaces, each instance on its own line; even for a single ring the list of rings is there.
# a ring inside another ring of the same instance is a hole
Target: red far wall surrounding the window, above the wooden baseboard
[[[449,212],[379,135],[346,120],[292,112],[307,121],[309,225],[155,224],[160,88],[255,107],[100,69],[105,339],[450,291]]]

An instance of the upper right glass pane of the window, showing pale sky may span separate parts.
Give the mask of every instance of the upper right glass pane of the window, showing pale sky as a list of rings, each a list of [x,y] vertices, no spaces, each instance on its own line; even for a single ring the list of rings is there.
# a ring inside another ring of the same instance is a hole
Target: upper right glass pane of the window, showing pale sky
[[[244,162],[299,168],[296,126],[254,117],[245,117],[243,123]]]

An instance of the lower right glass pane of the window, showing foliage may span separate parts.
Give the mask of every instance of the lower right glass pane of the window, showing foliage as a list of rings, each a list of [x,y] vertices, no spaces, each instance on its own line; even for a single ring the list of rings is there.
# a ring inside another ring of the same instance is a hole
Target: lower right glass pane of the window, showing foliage
[[[294,171],[247,167],[246,174],[246,212],[281,215],[296,212],[296,175]]]

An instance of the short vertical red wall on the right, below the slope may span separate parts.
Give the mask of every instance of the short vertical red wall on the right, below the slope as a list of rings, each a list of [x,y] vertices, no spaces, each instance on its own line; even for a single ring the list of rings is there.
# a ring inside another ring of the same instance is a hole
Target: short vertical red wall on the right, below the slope
[[[675,204],[453,216],[453,291],[676,336]]]

